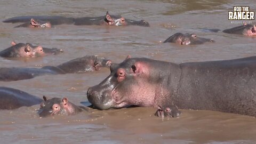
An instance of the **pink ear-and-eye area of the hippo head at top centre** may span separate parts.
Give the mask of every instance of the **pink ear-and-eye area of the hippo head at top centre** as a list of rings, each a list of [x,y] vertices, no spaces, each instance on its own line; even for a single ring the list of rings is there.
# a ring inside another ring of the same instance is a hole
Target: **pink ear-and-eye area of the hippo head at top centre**
[[[107,12],[105,22],[109,26],[126,26],[127,22],[121,15],[111,15]]]

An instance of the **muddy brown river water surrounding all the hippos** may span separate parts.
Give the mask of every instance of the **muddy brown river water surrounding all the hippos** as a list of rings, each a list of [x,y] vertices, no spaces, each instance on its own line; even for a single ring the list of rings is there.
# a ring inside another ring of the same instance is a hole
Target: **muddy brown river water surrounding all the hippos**
[[[231,28],[227,20],[233,6],[251,1],[1,1],[0,20],[20,15],[100,16],[108,10],[128,19],[145,19],[151,27],[101,27],[60,25],[51,29],[13,28],[0,22],[1,50],[11,41],[57,47],[65,53],[38,59],[0,58],[1,67],[59,65],[86,54],[102,55],[122,62],[127,54],[171,62],[225,60],[256,55],[256,38],[209,33],[202,28]],[[252,21],[255,22],[255,21]],[[174,33],[196,33],[216,43],[195,46],[162,44]],[[67,97],[81,105],[89,86],[109,74],[96,73],[41,76],[0,86],[43,97]],[[161,119],[154,108],[91,110],[76,116],[38,118],[39,106],[0,111],[1,143],[255,143],[254,117],[216,111],[182,110],[180,118]]]

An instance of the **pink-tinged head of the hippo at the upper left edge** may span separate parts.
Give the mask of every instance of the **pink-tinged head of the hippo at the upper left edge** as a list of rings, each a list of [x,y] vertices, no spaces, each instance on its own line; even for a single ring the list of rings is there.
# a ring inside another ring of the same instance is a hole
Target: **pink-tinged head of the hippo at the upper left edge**
[[[18,57],[37,57],[37,56],[43,56],[45,53],[43,51],[42,46],[33,46],[30,43],[19,43],[16,44],[15,42],[12,42],[12,46],[15,47],[15,55]]]

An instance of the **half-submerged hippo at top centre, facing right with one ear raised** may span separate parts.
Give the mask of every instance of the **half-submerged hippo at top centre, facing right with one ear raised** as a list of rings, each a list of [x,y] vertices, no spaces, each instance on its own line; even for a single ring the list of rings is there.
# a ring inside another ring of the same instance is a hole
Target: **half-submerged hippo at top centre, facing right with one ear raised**
[[[84,17],[74,19],[74,25],[100,25],[100,26],[145,26],[149,27],[149,23],[145,20],[134,21],[125,19],[121,15],[110,15],[108,12],[102,17]]]

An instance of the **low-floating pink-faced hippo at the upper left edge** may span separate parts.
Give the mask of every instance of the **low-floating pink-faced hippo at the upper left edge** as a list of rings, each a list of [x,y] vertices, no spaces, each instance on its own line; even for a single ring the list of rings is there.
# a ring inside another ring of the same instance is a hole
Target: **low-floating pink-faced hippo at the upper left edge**
[[[63,50],[59,50],[56,48],[46,48],[42,46],[33,46],[30,43],[11,43],[12,46],[0,51],[0,56],[5,58],[18,58],[18,57],[27,57],[27,58],[35,58],[42,57],[47,54],[59,54],[62,53]]]

